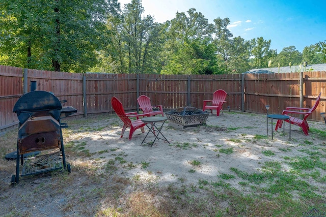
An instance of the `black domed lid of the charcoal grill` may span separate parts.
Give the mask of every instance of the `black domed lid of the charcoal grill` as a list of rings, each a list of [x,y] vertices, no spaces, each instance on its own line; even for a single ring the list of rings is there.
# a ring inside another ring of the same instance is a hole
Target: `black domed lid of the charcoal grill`
[[[16,102],[13,111],[17,114],[20,123],[33,116],[51,115],[56,120],[60,117],[61,102],[47,91],[35,90],[21,96]]]

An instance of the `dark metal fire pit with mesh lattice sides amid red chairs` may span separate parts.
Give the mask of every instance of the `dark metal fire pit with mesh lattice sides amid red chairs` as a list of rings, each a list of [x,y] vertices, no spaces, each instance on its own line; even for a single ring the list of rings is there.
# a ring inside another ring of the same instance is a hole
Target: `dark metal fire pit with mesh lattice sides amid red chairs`
[[[183,126],[184,129],[205,125],[209,113],[195,107],[179,107],[167,112],[166,115],[169,119],[169,124],[172,122],[176,125]]]

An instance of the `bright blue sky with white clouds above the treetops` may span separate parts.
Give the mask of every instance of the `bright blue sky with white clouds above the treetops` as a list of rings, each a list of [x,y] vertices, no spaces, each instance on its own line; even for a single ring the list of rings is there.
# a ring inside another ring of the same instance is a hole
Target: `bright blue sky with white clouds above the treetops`
[[[131,0],[118,2],[124,6]],[[201,12],[209,23],[228,17],[234,37],[270,39],[270,49],[278,53],[289,46],[302,52],[304,47],[326,40],[326,0],[142,0],[142,5],[143,15],[160,23],[190,8]]]

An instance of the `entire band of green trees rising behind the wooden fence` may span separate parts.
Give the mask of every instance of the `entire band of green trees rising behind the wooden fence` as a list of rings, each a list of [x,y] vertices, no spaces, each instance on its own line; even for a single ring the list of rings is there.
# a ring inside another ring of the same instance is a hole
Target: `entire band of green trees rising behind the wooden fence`
[[[280,53],[263,37],[233,37],[229,18],[213,23],[195,8],[164,23],[141,0],[3,0],[0,64],[105,73],[228,74],[326,61],[325,42]]]

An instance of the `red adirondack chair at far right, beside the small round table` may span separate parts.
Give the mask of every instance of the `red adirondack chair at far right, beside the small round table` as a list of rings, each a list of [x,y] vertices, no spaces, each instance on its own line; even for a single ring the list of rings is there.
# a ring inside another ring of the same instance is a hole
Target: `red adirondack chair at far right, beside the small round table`
[[[296,125],[301,127],[302,131],[305,133],[306,136],[308,136],[309,126],[307,122],[307,117],[315,111],[317,108],[319,101],[320,101],[320,95],[316,99],[315,105],[313,105],[311,108],[300,108],[300,107],[286,107],[285,110],[283,110],[282,114],[287,115],[290,117],[290,119],[284,120],[286,122],[290,122],[292,125]],[[303,119],[300,119],[298,117],[290,116],[289,114],[294,114],[296,116],[303,114]],[[283,120],[278,120],[275,126],[275,130],[277,131],[279,128],[282,128]]]

